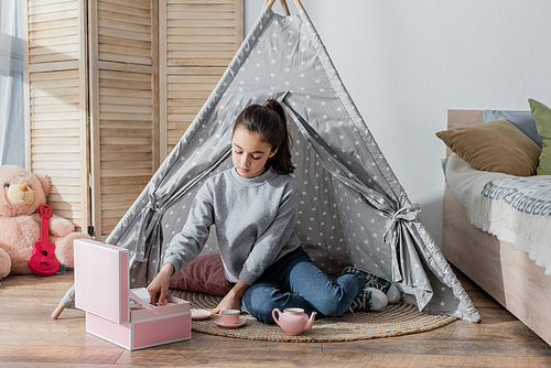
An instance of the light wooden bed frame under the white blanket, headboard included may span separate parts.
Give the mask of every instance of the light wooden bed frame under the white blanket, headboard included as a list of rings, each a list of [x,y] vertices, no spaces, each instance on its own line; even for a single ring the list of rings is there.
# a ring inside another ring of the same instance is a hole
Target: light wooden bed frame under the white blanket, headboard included
[[[483,123],[482,111],[449,110],[447,129],[477,123]],[[528,253],[471,225],[447,186],[442,251],[451,263],[551,345],[551,278]]]

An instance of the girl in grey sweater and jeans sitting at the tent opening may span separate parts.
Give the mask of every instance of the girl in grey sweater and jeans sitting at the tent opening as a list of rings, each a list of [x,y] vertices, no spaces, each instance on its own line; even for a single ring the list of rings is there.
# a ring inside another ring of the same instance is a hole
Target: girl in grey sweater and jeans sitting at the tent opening
[[[153,305],[164,305],[171,275],[197,257],[216,224],[226,278],[235,283],[212,312],[240,310],[273,323],[272,310],[301,307],[335,316],[348,309],[374,311],[395,301],[398,289],[366,272],[347,269],[332,281],[302,249],[294,231],[298,186],[282,106],[273,99],[237,117],[231,136],[234,166],[197,191],[187,221],[148,286]],[[365,288],[366,283],[374,288]],[[382,289],[385,292],[378,290]]]

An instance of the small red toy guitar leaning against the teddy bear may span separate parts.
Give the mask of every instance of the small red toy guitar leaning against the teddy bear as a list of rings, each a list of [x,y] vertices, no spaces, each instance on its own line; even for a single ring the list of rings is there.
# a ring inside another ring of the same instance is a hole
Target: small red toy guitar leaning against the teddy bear
[[[48,241],[50,217],[52,217],[52,206],[40,205],[40,240],[33,246],[33,253],[26,266],[40,275],[51,275],[57,272],[60,263],[55,258],[55,245]]]

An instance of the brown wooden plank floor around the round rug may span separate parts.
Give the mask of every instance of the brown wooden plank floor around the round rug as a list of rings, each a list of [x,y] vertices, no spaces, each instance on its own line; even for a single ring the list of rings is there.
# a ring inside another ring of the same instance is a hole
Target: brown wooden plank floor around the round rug
[[[551,367],[551,347],[457,273],[482,324],[348,343],[272,343],[193,333],[130,353],[85,333],[84,313],[50,315],[73,273],[0,281],[0,367]],[[551,326],[550,326],[551,328]]]

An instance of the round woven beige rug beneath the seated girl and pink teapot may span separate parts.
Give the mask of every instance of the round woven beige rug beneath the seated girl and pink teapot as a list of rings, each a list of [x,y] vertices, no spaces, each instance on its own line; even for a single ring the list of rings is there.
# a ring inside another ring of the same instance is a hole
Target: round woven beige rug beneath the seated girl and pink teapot
[[[192,310],[210,310],[222,301],[222,296],[182,290],[170,290],[169,294],[188,301]],[[329,343],[421,333],[442,327],[457,320],[457,317],[449,315],[421,313],[415,305],[397,303],[390,304],[379,312],[356,312],[354,314],[346,312],[338,317],[315,320],[311,329],[299,336],[290,336],[280,326],[263,324],[248,314],[241,315],[245,325],[239,328],[219,327],[215,322],[219,317],[219,315],[212,315],[207,320],[192,321],[192,329],[205,334],[247,339]]]

